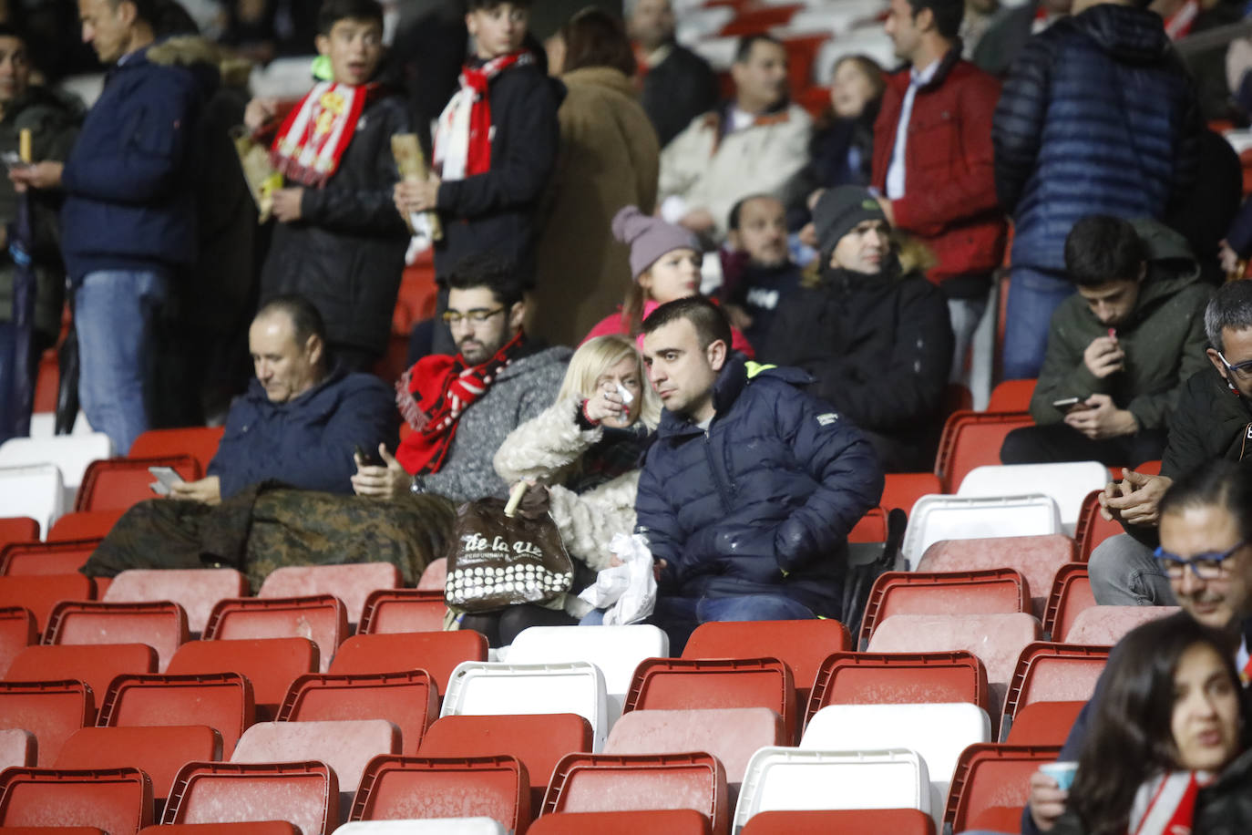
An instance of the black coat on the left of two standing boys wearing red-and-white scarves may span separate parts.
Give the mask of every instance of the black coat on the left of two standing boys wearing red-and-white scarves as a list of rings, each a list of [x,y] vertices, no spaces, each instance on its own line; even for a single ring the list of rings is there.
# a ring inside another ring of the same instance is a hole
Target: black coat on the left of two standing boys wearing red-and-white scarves
[[[262,300],[307,297],[332,343],[383,353],[404,270],[408,228],[392,190],[399,180],[393,134],[412,133],[398,95],[368,101],[339,168],[323,188],[305,188],[300,219],[274,223],[260,277]]]

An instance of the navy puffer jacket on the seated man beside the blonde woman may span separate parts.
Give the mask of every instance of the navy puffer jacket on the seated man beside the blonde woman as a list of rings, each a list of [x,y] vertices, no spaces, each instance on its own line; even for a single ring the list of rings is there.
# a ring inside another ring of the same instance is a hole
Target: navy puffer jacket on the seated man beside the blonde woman
[[[662,595],[785,595],[840,615],[848,532],[881,498],[883,472],[860,431],[800,388],[811,379],[769,367],[749,378],[736,353],[707,431],[664,413],[635,502],[637,531],[669,563]]]

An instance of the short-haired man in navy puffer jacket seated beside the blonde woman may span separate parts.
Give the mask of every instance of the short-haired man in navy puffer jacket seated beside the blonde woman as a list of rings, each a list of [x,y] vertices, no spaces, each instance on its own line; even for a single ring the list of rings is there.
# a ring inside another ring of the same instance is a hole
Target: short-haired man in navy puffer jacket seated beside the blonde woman
[[[644,320],[665,413],[635,511],[674,652],[709,621],[839,617],[848,532],[883,494],[873,447],[800,388],[813,378],[749,363],[730,338],[702,297]]]

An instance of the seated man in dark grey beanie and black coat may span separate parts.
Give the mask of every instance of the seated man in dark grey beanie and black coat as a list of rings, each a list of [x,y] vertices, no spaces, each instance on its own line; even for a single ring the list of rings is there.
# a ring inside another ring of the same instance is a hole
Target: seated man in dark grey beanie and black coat
[[[944,294],[901,265],[866,189],[823,193],[813,220],[821,272],[782,302],[759,353],[813,374],[810,391],[860,427],[884,471],[929,469],[953,351]]]

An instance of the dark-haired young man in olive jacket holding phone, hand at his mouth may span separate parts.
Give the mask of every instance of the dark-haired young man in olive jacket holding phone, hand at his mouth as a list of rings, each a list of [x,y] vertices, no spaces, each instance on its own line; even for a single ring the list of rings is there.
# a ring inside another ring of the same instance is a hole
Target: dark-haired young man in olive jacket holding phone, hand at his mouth
[[[1152,220],[1088,215],[1065,239],[1077,293],[1057,308],[1030,414],[1004,463],[1161,457],[1166,422],[1204,358],[1209,289],[1187,242]]]

